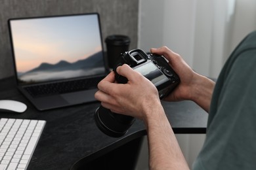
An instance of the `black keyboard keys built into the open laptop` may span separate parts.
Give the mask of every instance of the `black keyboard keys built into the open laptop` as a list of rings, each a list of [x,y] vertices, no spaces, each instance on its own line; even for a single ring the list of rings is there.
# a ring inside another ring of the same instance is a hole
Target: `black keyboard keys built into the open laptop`
[[[28,86],[25,90],[33,97],[42,97],[45,95],[54,95],[61,93],[78,92],[95,88],[103,77],[87,78],[83,80],[70,80],[65,82],[54,82],[50,84],[40,84]]]

